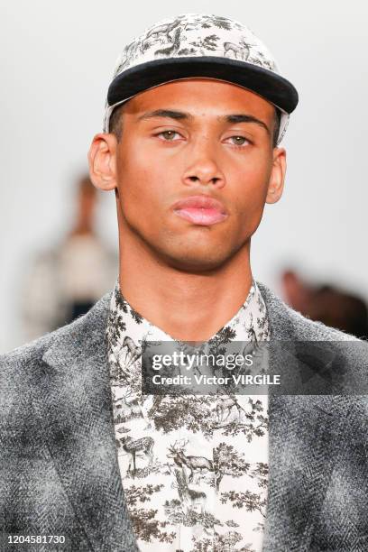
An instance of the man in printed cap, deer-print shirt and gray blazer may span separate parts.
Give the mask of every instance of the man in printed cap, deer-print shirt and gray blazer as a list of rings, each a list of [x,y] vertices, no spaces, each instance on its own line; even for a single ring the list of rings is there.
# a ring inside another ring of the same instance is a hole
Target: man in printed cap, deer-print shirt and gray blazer
[[[5,549],[16,534],[58,550],[367,548],[364,397],[272,395],[267,416],[265,396],[141,392],[150,341],[352,339],[251,271],[297,102],[262,42],[223,17],[166,20],[125,48],[89,152],[95,186],[115,190],[119,280],[3,359]]]

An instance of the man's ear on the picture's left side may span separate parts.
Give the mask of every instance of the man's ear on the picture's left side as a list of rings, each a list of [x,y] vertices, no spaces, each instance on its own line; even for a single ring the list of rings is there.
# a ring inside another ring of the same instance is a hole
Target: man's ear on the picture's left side
[[[111,190],[116,184],[116,136],[96,134],[88,152],[89,175],[98,189]]]

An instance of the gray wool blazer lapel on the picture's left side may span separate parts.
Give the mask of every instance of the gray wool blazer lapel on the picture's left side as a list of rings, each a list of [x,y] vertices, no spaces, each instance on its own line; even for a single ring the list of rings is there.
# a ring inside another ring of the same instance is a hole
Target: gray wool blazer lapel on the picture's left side
[[[35,402],[51,456],[92,550],[137,550],[117,463],[106,317],[110,294],[56,335]]]

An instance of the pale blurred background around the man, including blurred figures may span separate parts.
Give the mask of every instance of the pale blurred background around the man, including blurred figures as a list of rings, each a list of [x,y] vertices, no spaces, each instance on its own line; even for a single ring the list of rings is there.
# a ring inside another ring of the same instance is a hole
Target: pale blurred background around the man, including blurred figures
[[[87,150],[126,41],[161,18],[246,23],[299,90],[283,198],[253,237],[253,276],[314,319],[367,335],[368,5],[254,0],[1,3],[0,353],[87,310],[117,277],[114,193]]]

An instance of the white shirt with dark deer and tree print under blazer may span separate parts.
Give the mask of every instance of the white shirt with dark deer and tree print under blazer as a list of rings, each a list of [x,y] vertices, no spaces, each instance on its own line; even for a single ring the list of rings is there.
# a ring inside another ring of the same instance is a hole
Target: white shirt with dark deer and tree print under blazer
[[[142,552],[259,552],[268,486],[268,397],[144,395],[147,341],[174,341],[137,313],[118,282],[107,322],[117,458]],[[253,281],[211,340],[269,340]]]

